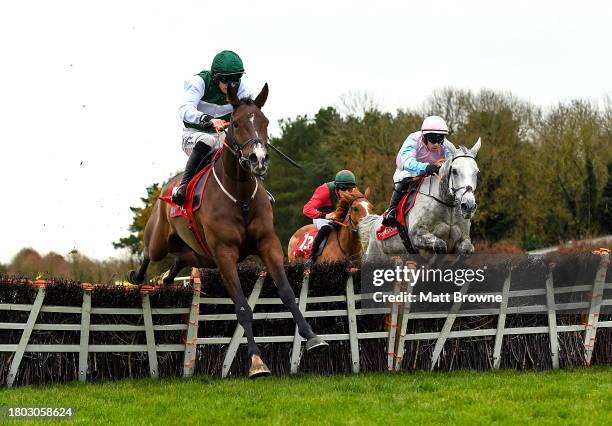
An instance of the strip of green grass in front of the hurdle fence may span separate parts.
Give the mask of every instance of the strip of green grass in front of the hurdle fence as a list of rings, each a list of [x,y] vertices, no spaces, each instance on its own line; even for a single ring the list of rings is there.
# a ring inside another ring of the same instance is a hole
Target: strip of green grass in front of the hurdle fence
[[[0,405],[72,406],[88,424],[604,425],[612,367],[70,383],[2,389]]]

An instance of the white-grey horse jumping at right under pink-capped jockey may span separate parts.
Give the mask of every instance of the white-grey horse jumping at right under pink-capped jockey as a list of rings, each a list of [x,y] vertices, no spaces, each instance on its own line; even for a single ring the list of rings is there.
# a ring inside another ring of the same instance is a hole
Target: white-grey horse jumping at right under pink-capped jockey
[[[476,211],[474,191],[479,174],[476,155],[480,145],[480,138],[471,149],[464,146],[456,148],[446,141],[445,146],[451,155],[438,175],[423,179],[414,206],[405,215],[410,242],[419,253],[474,252],[470,240],[470,219]],[[382,241],[377,239],[376,231],[381,222],[382,216],[372,215],[359,224],[366,259],[406,253],[399,235]]]

